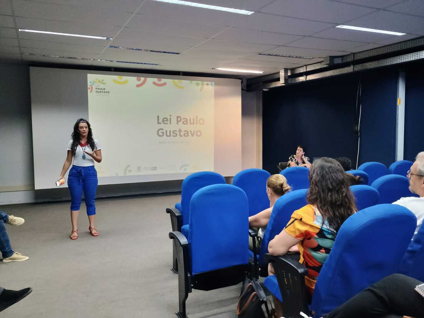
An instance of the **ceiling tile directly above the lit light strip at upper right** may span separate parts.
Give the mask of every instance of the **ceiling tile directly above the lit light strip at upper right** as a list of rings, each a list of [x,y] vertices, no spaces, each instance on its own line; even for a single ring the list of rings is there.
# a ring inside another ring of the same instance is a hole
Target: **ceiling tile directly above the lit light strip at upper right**
[[[379,10],[368,14],[366,17],[349,21],[348,25],[385,31],[414,33],[413,31],[424,28],[424,17],[414,17],[408,14]]]

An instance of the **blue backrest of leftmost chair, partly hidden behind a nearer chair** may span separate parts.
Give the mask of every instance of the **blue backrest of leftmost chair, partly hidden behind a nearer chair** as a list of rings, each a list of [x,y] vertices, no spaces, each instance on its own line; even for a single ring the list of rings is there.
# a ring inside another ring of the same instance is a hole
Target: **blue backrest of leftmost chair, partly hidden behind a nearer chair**
[[[181,186],[181,214],[183,216],[183,224],[187,225],[190,216],[190,200],[193,194],[211,184],[225,184],[225,179],[219,173],[211,171],[201,171],[192,173],[187,176]]]

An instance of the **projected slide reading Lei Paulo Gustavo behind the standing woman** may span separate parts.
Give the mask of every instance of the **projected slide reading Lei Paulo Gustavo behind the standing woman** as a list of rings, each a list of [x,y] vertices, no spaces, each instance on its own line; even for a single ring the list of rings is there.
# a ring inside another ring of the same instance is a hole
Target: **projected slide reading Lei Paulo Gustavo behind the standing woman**
[[[87,74],[99,177],[214,170],[214,83]]]

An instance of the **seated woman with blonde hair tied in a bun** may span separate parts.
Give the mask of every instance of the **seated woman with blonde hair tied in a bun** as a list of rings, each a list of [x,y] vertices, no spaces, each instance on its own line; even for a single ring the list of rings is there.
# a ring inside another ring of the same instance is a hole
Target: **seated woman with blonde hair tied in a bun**
[[[262,239],[264,237],[269,218],[271,218],[272,208],[275,201],[288,191],[290,191],[290,186],[287,184],[286,177],[281,174],[273,174],[266,181],[266,193],[268,194],[269,208],[249,217],[249,226],[259,228],[256,244],[257,251],[261,248]],[[253,251],[253,241],[250,236],[249,249]]]

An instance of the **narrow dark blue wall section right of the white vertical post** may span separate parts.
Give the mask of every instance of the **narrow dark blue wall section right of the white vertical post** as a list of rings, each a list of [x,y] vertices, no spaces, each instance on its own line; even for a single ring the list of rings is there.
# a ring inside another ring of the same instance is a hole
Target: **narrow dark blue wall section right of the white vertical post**
[[[404,159],[414,161],[424,151],[424,63],[407,65],[405,87],[405,140]]]

